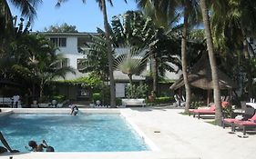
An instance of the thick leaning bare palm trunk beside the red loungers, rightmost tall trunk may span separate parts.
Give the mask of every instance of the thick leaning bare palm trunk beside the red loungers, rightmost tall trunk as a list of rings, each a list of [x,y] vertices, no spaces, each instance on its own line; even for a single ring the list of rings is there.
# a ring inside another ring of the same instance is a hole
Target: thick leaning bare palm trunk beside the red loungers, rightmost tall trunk
[[[218,77],[216,60],[215,60],[215,56],[214,56],[214,52],[213,52],[212,36],[210,33],[210,18],[208,15],[208,8],[206,5],[206,0],[200,0],[200,7],[201,7],[201,11],[202,11],[204,32],[205,32],[208,54],[209,54],[209,59],[210,59],[210,68],[211,68],[211,76],[212,76],[213,91],[214,91],[213,92],[214,104],[216,106],[215,122],[216,122],[216,124],[220,125],[221,118],[222,118],[222,107],[220,104],[219,77]]]

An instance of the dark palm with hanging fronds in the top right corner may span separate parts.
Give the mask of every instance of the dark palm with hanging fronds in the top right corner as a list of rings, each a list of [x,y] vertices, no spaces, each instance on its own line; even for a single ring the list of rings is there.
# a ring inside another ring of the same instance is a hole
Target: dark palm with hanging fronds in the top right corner
[[[236,55],[229,54],[229,56],[233,59],[234,56],[238,56],[238,70],[241,72],[244,69],[246,72],[248,97],[252,97],[253,95],[252,70],[250,65],[253,54],[249,53],[250,43],[247,38],[255,37],[255,5],[256,3],[253,0],[225,0],[215,1],[212,4],[213,14],[211,24],[213,25],[216,44],[224,53],[236,53],[238,50],[243,53],[241,54],[239,52]],[[229,62],[234,61],[229,60]],[[227,60],[226,64],[229,62]],[[237,76],[241,76],[241,74]]]

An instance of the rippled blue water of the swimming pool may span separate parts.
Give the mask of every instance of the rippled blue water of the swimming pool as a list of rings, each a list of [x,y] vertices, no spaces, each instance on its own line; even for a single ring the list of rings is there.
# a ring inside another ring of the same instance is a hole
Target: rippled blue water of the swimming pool
[[[11,114],[0,118],[13,149],[27,152],[29,140],[43,139],[56,152],[145,151],[148,146],[119,114]]]

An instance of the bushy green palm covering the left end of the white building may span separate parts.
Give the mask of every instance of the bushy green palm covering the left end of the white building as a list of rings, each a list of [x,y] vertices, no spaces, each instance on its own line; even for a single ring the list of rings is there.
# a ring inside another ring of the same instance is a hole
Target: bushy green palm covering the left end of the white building
[[[46,84],[57,77],[65,78],[68,72],[75,74],[74,69],[69,66],[58,66],[63,57],[55,54],[56,47],[44,36],[25,35],[24,39],[18,42],[18,45],[22,45],[22,43],[26,44],[26,48],[24,50],[17,48],[14,51],[22,54],[23,60],[13,65],[12,69],[16,74],[31,81],[33,85],[39,81],[40,99],[42,99]],[[15,59],[18,59],[16,55]]]

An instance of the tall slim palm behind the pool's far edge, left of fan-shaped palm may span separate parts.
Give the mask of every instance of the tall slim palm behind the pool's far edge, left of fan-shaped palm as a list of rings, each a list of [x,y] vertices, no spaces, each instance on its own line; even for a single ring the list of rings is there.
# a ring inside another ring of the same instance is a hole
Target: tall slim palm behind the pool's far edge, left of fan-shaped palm
[[[58,0],[56,5],[60,5],[62,2],[67,0]],[[127,0],[124,0],[127,3]],[[82,0],[83,3],[86,3],[86,0]],[[96,0],[99,9],[103,13],[104,19],[104,28],[106,34],[106,41],[107,41],[107,49],[108,49],[108,69],[109,69],[109,82],[110,82],[110,105],[116,106],[116,93],[115,93],[115,81],[113,75],[113,58],[112,58],[112,46],[109,39],[109,28],[108,28],[108,14],[107,14],[107,7],[106,7],[106,0]],[[113,6],[112,0],[108,0],[109,4]]]

